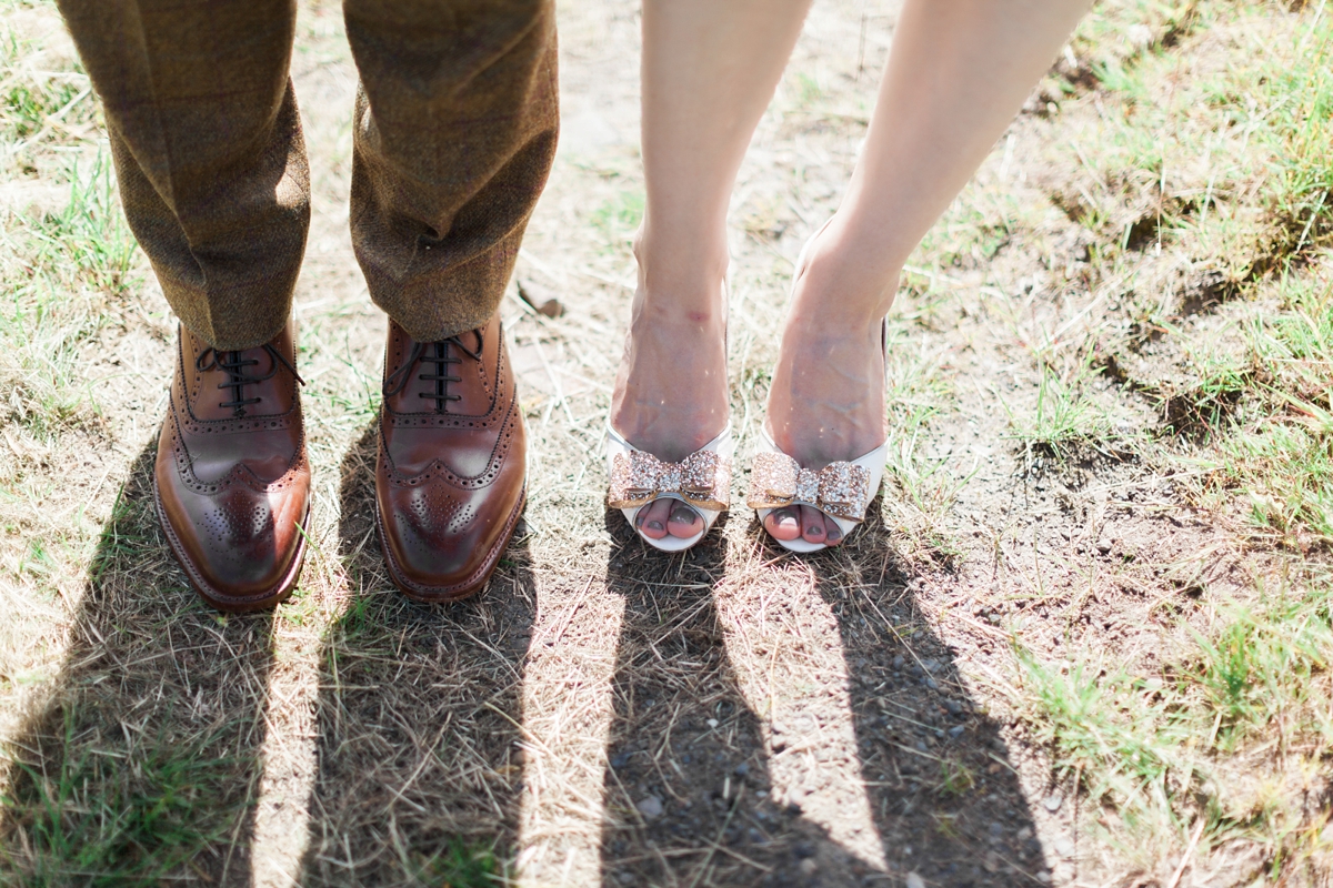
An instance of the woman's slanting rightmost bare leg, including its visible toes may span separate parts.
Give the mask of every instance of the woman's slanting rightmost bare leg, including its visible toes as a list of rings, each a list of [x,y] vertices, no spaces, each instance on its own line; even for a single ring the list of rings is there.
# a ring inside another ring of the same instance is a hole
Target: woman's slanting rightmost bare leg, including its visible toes
[[[884,442],[880,335],[908,254],[949,206],[1090,0],[906,0],[841,206],[796,282],[768,399],[773,439],[802,466]],[[838,542],[801,507],[780,539]]]

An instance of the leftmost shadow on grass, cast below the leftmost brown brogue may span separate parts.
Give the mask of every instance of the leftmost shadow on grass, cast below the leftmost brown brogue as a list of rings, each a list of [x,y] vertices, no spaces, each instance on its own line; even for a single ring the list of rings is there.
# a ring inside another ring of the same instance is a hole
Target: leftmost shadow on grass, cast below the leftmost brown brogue
[[[135,459],[60,674],[5,751],[0,883],[251,881],[272,614],[199,600],[157,526],[155,454]]]

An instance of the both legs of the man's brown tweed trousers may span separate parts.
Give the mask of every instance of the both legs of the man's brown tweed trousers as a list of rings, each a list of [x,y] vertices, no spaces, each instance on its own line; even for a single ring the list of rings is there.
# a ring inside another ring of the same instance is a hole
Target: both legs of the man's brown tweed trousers
[[[220,349],[291,313],[309,170],[295,0],[59,0],[103,97],[121,201],[168,302]],[[552,0],[348,0],[361,73],[352,240],[415,338],[499,305],[555,154]]]

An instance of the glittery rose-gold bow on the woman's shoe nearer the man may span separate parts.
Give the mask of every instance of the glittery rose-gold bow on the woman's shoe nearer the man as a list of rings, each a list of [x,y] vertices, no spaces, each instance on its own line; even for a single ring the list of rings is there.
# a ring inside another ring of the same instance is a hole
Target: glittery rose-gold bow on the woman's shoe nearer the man
[[[696,509],[724,511],[730,499],[732,461],[712,450],[696,450],[680,462],[663,462],[651,453],[616,454],[607,505],[647,506],[663,494],[676,494]]]

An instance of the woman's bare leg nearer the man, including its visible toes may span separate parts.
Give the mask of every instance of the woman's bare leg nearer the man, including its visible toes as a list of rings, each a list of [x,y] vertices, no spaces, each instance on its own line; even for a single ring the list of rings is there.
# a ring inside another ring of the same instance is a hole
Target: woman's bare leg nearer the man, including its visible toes
[[[726,425],[726,205],[809,0],[644,0],[643,152],[648,201],[639,289],[611,422],[678,461]],[[693,537],[698,515],[661,499],[653,538]]]

